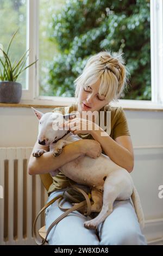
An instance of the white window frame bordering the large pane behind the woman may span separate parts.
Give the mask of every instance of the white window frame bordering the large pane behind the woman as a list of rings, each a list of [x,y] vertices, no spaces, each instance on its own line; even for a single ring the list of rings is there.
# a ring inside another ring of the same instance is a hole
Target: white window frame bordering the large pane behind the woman
[[[152,100],[119,100],[117,105],[129,108],[163,108],[163,1],[151,0],[151,87]],[[39,0],[27,0],[27,48],[29,63],[39,59]],[[39,96],[39,62],[27,70],[28,89],[22,103],[66,106],[74,97]]]

